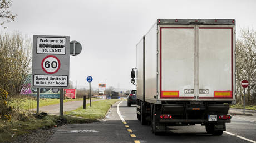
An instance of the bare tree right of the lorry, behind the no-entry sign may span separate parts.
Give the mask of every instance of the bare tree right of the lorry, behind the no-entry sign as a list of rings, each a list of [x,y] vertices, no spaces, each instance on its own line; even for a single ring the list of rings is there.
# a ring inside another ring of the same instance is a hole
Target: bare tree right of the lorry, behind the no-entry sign
[[[240,32],[237,40],[237,92],[239,92],[242,101],[242,87],[240,85],[243,79],[249,81],[247,88],[247,101],[253,101],[252,93],[255,93],[256,87],[256,32],[253,29],[244,28]],[[251,103],[253,104],[253,103]]]

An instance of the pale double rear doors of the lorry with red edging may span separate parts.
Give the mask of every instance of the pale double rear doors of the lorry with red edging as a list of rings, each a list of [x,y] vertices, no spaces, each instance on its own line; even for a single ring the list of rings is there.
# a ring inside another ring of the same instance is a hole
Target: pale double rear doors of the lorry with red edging
[[[160,99],[233,100],[234,25],[159,25]]]

